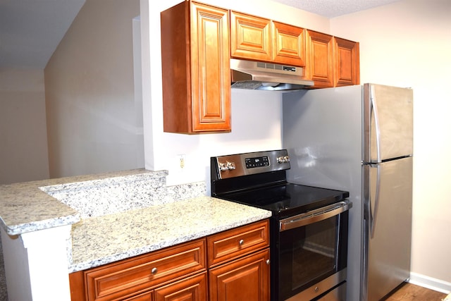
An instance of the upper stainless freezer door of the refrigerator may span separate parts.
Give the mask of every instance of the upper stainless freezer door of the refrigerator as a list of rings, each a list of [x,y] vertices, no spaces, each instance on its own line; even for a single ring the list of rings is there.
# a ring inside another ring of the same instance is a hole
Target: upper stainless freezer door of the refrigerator
[[[364,85],[364,162],[413,154],[413,90]]]

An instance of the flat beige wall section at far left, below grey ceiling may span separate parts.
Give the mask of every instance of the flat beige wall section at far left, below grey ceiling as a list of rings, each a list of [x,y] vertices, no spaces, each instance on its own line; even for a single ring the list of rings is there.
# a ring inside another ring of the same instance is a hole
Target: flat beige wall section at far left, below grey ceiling
[[[0,184],[49,178],[44,72],[0,70]]]

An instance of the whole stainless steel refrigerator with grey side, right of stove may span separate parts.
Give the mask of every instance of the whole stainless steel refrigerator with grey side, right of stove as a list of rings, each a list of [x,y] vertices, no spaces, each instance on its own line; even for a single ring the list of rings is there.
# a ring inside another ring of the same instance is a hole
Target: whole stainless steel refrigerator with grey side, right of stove
[[[410,274],[413,92],[355,85],[283,94],[292,183],[347,190],[347,300],[380,300]]]

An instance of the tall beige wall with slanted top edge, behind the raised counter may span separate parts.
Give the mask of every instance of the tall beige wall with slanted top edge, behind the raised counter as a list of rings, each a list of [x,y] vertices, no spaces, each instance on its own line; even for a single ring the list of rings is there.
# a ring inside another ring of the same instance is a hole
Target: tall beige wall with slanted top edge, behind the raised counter
[[[45,74],[51,178],[144,166],[132,19],[139,0],[88,0]]]

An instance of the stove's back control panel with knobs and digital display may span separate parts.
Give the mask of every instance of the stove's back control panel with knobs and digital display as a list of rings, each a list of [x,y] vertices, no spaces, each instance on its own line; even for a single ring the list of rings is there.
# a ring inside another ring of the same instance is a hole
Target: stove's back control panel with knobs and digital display
[[[211,164],[216,164],[219,178],[233,178],[290,169],[290,156],[286,149],[249,152],[212,157]]]

